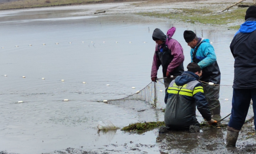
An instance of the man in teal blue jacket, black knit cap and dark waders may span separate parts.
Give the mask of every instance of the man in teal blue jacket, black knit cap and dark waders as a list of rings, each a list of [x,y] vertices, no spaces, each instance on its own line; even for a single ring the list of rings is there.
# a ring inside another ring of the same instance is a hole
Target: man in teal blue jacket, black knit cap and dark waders
[[[213,118],[215,120],[218,120],[220,119],[220,102],[218,98],[221,73],[214,48],[209,43],[210,40],[197,37],[196,33],[191,30],[185,30],[183,35],[188,46],[191,47],[191,62],[197,63],[203,71],[200,81],[203,81],[203,90],[209,104],[211,115],[214,116]],[[215,86],[209,86],[204,82],[212,82]]]

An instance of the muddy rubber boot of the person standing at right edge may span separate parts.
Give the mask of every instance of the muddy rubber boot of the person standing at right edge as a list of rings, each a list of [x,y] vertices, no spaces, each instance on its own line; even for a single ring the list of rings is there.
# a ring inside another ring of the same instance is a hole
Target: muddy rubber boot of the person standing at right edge
[[[235,129],[229,126],[227,127],[226,147],[236,147],[238,134],[239,134],[238,129]]]

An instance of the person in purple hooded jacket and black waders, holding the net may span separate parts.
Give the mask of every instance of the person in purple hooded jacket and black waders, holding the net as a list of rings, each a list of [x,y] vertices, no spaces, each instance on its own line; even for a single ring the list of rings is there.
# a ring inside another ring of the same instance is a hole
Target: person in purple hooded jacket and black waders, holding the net
[[[184,72],[184,55],[181,44],[172,38],[176,28],[168,30],[167,36],[158,28],[154,29],[152,38],[156,43],[154,58],[151,69],[151,81],[156,82],[157,71],[162,65],[165,88],[169,87],[173,77],[179,76]]]

